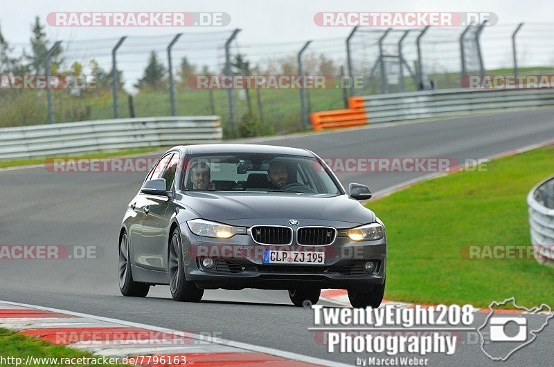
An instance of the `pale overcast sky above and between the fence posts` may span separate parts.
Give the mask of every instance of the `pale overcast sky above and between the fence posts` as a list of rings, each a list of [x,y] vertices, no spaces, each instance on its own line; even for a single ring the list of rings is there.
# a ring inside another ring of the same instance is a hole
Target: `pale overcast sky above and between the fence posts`
[[[94,58],[104,70],[111,68],[111,48],[123,35],[129,36],[118,51],[118,68],[123,70],[126,86],[132,85],[143,75],[150,51],[160,55],[166,63],[166,45],[178,32],[184,32],[173,53],[174,68],[186,56],[197,66],[206,65],[210,70],[221,70],[224,64],[224,39],[234,28],[242,32],[232,45],[233,54],[244,53],[253,64],[267,63],[275,57],[295,57],[303,43],[314,40],[310,53],[324,53],[337,62],[345,57],[344,39],[352,28],[321,27],[314,23],[317,12],[493,12],[499,18],[498,26],[485,29],[482,39],[485,63],[488,67],[506,67],[511,60],[511,32],[516,23],[542,23],[538,32],[533,26],[520,32],[520,62],[536,66],[551,63],[554,59],[554,2],[549,0],[2,0],[0,26],[4,37],[15,48],[13,55],[21,55],[21,48],[28,50],[30,23],[39,16],[46,23],[51,12],[226,12],[231,23],[226,27],[54,27],[46,26],[49,41],[64,41],[64,62],[88,65]],[[504,26],[509,24],[510,26]],[[419,28],[419,27],[418,27]],[[364,28],[368,29],[368,28]],[[379,28],[383,30],[384,28]],[[549,30],[550,33],[546,32]],[[190,35],[195,32],[222,31],[216,36]],[[460,28],[434,29],[428,32],[427,40],[436,39],[442,31],[450,32],[443,39],[441,49],[432,49],[435,57],[427,59],[427,71],[457,68],[457,39]],[[528,32],[526,34],[526,32]],[[398,33],[396,33],[398,34]],[[162,37],[163,35],[163,37]],[[413,33],[412,35],[415,35]],[[537,37],[537,35],[539,37]],[[136,36],[136,37],[133,37]],[[143,38],[149,36],[148,38]],[[152,37],[153,36],[153,37]],[[160,37],[157,37],[160,36]],[[152,37],[152,38],[150,38]],[[209,37],[217,39],[209,40]],[[358,40],[362,41],[361,36]],[[366,37],[366,36],[364,36]],[[95,41],[88,41],[93,39]],[[109,39],[100,41],[98,39]],[[330,39],[325,41],[325,39]],[[415,39],[415,38],[414,38]],[[413,63],[414,39],[406,39],[411,50],[405,50],[405,57]],[[450,41],[452,39],[452,41]],[[87,42],[79,42],[87,40]],[[322,40],[318,42],[318,40]],[[353,41],[357,41],[356,37]],[[392,40],[393,41],[393,40]],[[211,42],[211,43],[210,43]],[[375,44],[376,41],[374,41]],[[394,41],[393,41],[394,42]],[[275,43],[278,43],[275,45]],[[272,45],[273,44],[273,45]],[[267,45],[267,46],[266,46]],[[375,46],[375,45],[374,45]],[[432,41],[429,47],[432,47]],[[448,47],[452,46],[452,47]],[[406,47],[407,48],[407,47]],[[360,46],[362,54],[355,54],[355,66],[364,65],[377,52],[375,48]],[[359,51],[358,51],[359,52]],[[363,57],[363,58],[362,58]],[[508,63],[508,64],[507,64]],[[85,70],[86,71],[86,70]]]

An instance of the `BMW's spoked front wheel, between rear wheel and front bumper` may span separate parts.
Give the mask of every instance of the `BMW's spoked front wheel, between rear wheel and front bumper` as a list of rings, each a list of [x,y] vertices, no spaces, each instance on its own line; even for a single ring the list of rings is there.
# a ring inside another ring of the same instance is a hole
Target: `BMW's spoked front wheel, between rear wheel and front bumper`
[[[169,241],[169,288],[171,297],[179,302],[198,302],[204,295],[204,290],[198,288],[193,281],[185,278],[183,247],[179,228],[175,228]]]

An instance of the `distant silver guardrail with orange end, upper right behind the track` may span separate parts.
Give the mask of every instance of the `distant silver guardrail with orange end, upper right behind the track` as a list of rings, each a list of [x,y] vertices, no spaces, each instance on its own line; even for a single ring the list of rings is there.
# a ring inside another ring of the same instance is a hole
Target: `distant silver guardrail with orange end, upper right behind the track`
[[[553,89],[443,89],[351,97],[348,110],[312,113],[314,129],[554,106]],[[347,114],[343,112],[348,112]],[[365,113],[365,120],[359,117]],[[348,120],[348,116],[352,116]],[[339,118],[340,117],[340,118]],[[325,124],[319,124],[324,121]],[[351,124],[349,124],[351,122]]]

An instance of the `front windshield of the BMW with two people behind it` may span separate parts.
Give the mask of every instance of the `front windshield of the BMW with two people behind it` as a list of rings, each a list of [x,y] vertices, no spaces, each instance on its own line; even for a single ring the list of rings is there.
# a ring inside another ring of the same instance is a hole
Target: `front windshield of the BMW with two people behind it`
[[[312,157],[226,153],[188,157],[187,191],[262,191],[341,194],[334,179]]]

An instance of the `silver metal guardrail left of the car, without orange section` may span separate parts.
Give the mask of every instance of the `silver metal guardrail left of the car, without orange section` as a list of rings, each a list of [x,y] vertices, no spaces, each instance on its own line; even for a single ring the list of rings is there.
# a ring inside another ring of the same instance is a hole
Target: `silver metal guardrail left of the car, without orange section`
[[[0,159],[220,142],[219,116],[141,117],[0,129]]]

